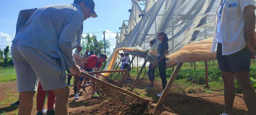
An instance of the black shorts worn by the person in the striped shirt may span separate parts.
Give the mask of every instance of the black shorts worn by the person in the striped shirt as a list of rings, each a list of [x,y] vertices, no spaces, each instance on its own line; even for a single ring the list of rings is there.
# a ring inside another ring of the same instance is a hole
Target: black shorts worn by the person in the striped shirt
[[[241,72],[250,71],[251,54],[245,47],[244,49],[237,51],[230,55],[222,56],[222,45],[218,42],[217,45],[217,61],[219,69],[226,72]]]

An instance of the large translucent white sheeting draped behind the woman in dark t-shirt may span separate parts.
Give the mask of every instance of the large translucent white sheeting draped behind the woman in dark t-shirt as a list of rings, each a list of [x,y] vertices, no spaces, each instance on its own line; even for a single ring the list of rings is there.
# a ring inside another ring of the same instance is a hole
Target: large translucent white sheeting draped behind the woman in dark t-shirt
[[[145,9],[149,8],[147,1]],[[160,31],[165,32],[169,38],[167,55],[179,51],[190,41],[212,37],[214,14],[218,5],[219,0],[158,0],[148,11],[145,11],[139,23],[116,46],[116,49],[122,48],[132,55],[146,58],[153,63],[156,60],[159,44],[157,33]],[[150,48],[149,42],[153,39],[156,39],[156,42]],[[107,61],[107,65],[111,64],[111,67],[106,66],[105,69],[113,69],[112,63],[116,62],[111,58],[116,55],[115,50]]]

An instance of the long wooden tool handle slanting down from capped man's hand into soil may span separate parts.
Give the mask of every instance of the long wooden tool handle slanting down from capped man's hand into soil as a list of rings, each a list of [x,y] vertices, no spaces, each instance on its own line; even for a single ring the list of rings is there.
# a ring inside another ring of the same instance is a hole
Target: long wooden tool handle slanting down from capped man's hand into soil
[[[95,81],[95,82],[97,82],[97,83],[99,83],[99,84],[101,84],[101,85],[103,85],[103,86],[105,86],[105,87],[108,87],[108,88],[117,90],[117,91],[119,91],[119,92],[121,92],[121,93],[125,93],[125,94],[127,94],[127,95],[129,95],[129,96],[132,96],[132,97],[134,97],[134,98],[136,98],[136,99],[139,99],[140,101],[144,102],[144,103],[147,104],[147,105],[148,105],[148,103],[149,103],[149,101],[150,101],[149,99],[146,99],[146,98],[143,98],[143,97],[141,97],[141,96],[138,96],[138,95],[136,95],[136,94],[134,94],[134,93],[132,93],[132,92],[130,92],[130,91],[127,91],[127,90],[123,89],[123,88],[119,88],[119,87],[117,87],[117,86],[115,86],[115,85],[112,85],[112,84],[110,84],[110,83],[108,83],[108,82],[105,82],[105,81],[102,81],[102,80],[100,80],[100,79],[98,79],[98,78],[96,78],[96,77],[93,77],[92,75],[90,75],[90,74],[88,74],[88,73],[82,72],[82,75],[83,75],[83,76],[86,76],[86,77],[89,78],[90,80]]]

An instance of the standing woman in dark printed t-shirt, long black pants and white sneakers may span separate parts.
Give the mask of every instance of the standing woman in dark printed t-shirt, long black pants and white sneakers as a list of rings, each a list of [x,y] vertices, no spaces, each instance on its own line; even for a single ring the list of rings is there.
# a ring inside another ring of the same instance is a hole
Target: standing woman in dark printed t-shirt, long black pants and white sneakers
[[[167,84],[167,80],[166,80],[166,58],[165,58],[165,54],[167,54],[168,51],[168,37],[164,32],[159,32],[157,34],[158,39],[160,41],[158,48],[157,48],[157,58],[156,58],[156,62],[154,63],[154,67],[157,65],[158,66],[158,71],[162,80],[162,86],[163,86],[163,90]],[[163,90],[161,93],[157,94],[157,96],[161,97]]]

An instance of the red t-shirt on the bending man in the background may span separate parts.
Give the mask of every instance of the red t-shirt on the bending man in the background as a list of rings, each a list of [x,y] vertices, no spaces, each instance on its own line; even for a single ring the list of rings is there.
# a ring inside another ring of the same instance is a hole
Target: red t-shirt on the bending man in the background
[[[101,62],[98,62],[98,57],[95,55],[91,55],[90,57],[87,57],[88,63],[85,64],[85,69],[93,69],[95,67],[100,68],[102,66]],[[83,62],[84,64],[84,62]]]

